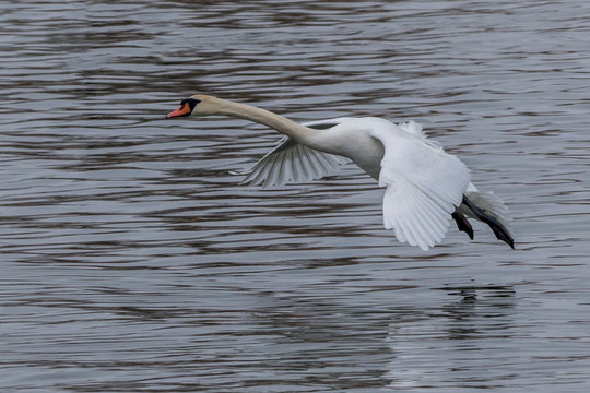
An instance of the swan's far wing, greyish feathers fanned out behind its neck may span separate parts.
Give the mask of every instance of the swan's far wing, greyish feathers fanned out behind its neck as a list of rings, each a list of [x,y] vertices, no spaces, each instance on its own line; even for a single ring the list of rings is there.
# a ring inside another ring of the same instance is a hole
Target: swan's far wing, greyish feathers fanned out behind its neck
[[[337,118],[303,123],[315,129],[334,127],[347,118]],[[343,157],[306,147],[284,136],[255,166],[237,175],[246,175],[240,183],[262,187],[282,186],[287,182],[308,182],[333,172],[347,160]]]

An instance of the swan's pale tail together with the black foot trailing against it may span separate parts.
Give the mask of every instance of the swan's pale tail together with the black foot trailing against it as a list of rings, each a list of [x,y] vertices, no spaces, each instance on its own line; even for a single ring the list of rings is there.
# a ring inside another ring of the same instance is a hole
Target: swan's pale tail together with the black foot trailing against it
[[[463,204],[469,207],[465,210],[468,216],[489,225],[498,240],[505,241],[512,249],[515,248],[508,207],[498,196],[492,192],[480,192],[474,187],[470,187],[463,195]]]

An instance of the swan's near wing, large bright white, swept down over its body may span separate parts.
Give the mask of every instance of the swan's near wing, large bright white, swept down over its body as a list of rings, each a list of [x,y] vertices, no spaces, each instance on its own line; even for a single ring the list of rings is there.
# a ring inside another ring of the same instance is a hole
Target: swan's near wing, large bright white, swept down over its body
[[[397,126],[371,132],[385,146],[379,175],[379,186],[387,187],[384,224],[399,241],[428,250],[445,237],[470,172],[424,134],[400,138],[399,131],[408,132]]]

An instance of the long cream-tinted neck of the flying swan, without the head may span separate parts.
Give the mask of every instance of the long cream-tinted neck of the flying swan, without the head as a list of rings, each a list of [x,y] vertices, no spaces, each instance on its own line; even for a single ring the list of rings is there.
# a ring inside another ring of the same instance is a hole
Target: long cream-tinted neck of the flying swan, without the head
[[[212,98],[212,99],[211,99]],[[287,136],[293,138],[298,143],[304,145],[312,144],[312,136],[317,135],[318,131],[304,127],[285,117],[273,114],[269,110],[257,108],[251,105],[238,104],[221,98],[210,98],[210,103],[215,106],[216,115],[225,115],[247,119],[260,124],[270,127]]]

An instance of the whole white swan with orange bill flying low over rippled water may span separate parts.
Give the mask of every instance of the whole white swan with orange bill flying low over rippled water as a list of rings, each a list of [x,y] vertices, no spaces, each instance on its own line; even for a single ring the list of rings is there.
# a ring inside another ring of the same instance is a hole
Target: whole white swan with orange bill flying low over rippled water
[[[422,126],[376,117],[341,117],[297,123],[251,105],[196,94],[166,118],[222,115],[255,121],[285,136],[249,170],[243,183],[279,186],[321,178],[351,159],[384,187],[384,225],[400,242],[427,251],[447,234],[451,218],[473,239],[469,218],[487,224],[512,249],[505,204],[480,192],[468,167],[426,138]],[[344,158],[345,157],[345,158]]]

